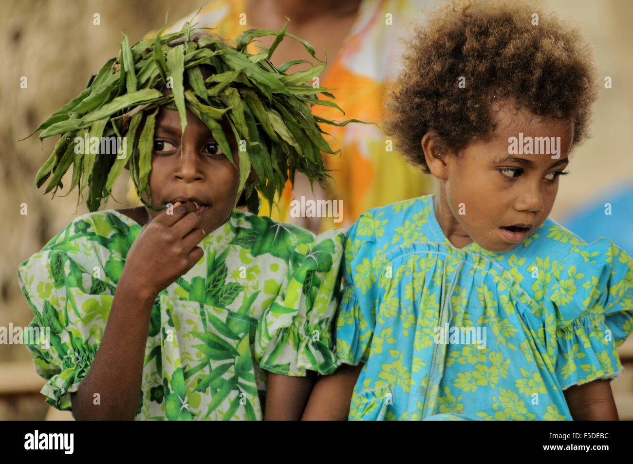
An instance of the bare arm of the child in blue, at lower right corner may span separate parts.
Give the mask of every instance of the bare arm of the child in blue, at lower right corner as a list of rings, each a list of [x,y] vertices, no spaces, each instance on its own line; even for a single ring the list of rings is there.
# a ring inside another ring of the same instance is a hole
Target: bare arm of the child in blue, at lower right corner
[[[563,392],[573,420],[618,420],[610,380],[594,380]]]

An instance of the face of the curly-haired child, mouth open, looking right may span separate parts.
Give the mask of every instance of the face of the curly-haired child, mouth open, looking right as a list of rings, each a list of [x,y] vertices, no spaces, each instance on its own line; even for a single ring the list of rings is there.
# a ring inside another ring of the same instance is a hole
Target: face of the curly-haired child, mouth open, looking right
[[[460,248],[475,241],[482,248],[503,253],[515,248],[548,217],[558,192],[559,173],[568,163],[573,125],[526,110],[501,108],[497,114],[492,139],[472,142],[460,156],[444,157],[444,168],[436,177],[441,179],[444,211],[438,220],[444,232],[461,238]],[[515,146],[510,137],[517,138]],[[541,141],[536,137],[552,141],[554,137],[556,145],[550,144],[548,153],[542,153],[544,144],[539,146],[541,154],[518,152],[519,141],[525,148],[527,137],[532,141]],[[506,229],[510,226],[525,229]]]

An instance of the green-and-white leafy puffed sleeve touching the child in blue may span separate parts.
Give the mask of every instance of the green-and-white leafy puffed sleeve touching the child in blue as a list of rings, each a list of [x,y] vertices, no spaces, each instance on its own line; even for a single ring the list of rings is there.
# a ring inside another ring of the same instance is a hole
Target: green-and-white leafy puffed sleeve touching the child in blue
[[[329,230],[303,245],[298,265],[258,321],[255,354],[261,368],[294,377],[303,377],[306,369],[323,375],[336,369],[332,320],[344,241],[342,230]]]

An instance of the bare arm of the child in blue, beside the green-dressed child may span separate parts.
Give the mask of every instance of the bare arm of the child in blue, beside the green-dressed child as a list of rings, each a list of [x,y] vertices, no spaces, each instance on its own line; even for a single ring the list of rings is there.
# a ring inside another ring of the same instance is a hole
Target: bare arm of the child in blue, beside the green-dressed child
[[[349,403],[363,365],[342,365],[316,381],[301,420],[347,420]]]

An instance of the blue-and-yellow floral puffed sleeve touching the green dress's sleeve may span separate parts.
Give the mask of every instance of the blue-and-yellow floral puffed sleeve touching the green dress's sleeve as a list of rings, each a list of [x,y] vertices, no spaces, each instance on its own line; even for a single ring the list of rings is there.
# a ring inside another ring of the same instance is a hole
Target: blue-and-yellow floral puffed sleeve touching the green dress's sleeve
[[[376,243],[371,211],[349,228],[341,309],[336,323],[336,353],[342,363],[358,365],[369,358],[377,304]]]

